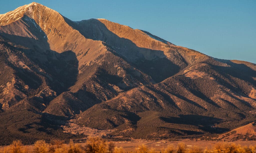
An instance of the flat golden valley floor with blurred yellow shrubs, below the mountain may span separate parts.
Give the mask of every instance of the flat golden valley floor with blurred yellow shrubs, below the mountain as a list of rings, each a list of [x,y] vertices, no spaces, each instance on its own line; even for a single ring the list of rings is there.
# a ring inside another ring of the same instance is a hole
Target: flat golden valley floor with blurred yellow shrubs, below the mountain
[[[20,144],[21,145],[20,150],[23,150],[23,151],[20,151],[20,152],[21,153],[23,153],[23,152],[35,152],[36,148],[38,148],[39,150],[40,150],[40,148],[41,149],[46,148],[46,150],[48,149],[46,152],[55,152],[55,153],[64,152],[64,151],[66,151],[68,153],[69,152],[72,153],[72,148],[73,148],[73,152],[76,152],[76,151],[74,151],[74,148],[79,148],[79,149],[82,148],[80,150],[81,152],[88,152],[88,148],[90,148],[90,147],[88,147],[88,144],[90,144],[92,146],[95,145],[95,144],[96,144],[95,146],[97,146],[97,144],[98,144],[98,146],[101,146],[101,148],[105,147],[105,148],[109,148],[110,150],[111,150],[111,147],[112,147],[113,151],[107,151],[107,152],[114,152],[114,153],[115,152],[116,153],[119,153],[119,152],[120,153],[121,152],[123,152],[123,153],[126,153],[126,152],[141,152],[142,148],[147,148],[148,150],[154,150],[154,153],[158,153],[158,152],[164,152],[164,150],[166,148],[170,147],[170,146],[175,150],[172,153],[175,153],[175,152],[177,153],[178,151],[176,151],[176,149],[179,148],[178,146],[180,144],[184,145],[183,146],[184,147],[183,152],[189,152],[189,153],[190,152],[192,152],[192,153],[203,153],[203,152],[205,152],[206,148],[208,150],[210,150],[210,152],[216,152],[216,146],[218,146],[218,145],[223,147],[224,150],[225,150],[225,147],[230,148],[230,146],[232,146],[231,144],[236,144],[235,146],[242,146],[241,148],[246,148],[246,147],[250,148],[250,146],[256,146],[256,141],[217,142],[217,141],[192,141],[192,140],[189,140],[189,139],[184,139],[182,141],[133,140],[133,141],[127,141],[127,142],[125,142],[125,141],[124,142],[109,142],[109,141],[104,141],[101,138],[96,138],[96,139],[93,138],[91,141],[88,141],[87,143],[77,143],[77,144],[73,144],[72,142],[69,143],[69,144],[63,144],[63,142],[61,142],[61,141],[57,141],[57,142],[50,143],[50,144],[46,144],[46,143],[44,144],[42,142],[43,141],[41,141],[41,143],[36,143],[35,145],[25,145],[25,146]],[[10,145],[10,146],[1,146],[0,147],[0,153],[2,153],[4,151],[5,152],[15,152],[15,151],[12,151],[12,150],[16,146],[18,146],[18,145],[15,144],[15,145]],[[227,147],[227,146],[229,146],[229,147]],[[9,149],[7,149],[8,147],[9,147]],[[61,148],[62,150],[58,149],[58,148]],[[116,149],[114,149],[114,148],[116,148]],[[119,152],[116,151],[118,148],[121,148],[122,151],[120,151],[120,150],[119,150]],[[195,151],[195,148],[196,148],[196,151]],[[6,151],[6,150],[8,150],[8,151]],[[87,150],[87,151],[84,151],[84,150]],[[106,149],[106,150],[108,150],[108,149]],[[36,152],[39,153],[39,152],[44,152],[44,151],[36,151]],[[77,151],[77,153],[78,152],[79,151]],[[144,151],[144,152],[146,152],[146,151]],[[221,152],[225,152],[225,151],[223,151],[223,149],[222,149]],[[226,151],[226,152],[229,152],[229,151]],[[239,153],[239,152],[256,153],[256,150],[255,149],[254,150],[247,149],[246,152],[244,152],[244,151],[234,151],[234,152],[236,152],[236,153]]]

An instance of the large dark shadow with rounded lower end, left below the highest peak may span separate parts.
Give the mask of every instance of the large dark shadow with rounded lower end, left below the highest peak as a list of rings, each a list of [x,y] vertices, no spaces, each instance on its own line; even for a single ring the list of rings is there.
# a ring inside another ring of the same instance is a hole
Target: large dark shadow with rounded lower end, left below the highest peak
[[[17,50],[24,53],[29,60],[33,61],[35,65],[38,65],[46,72],[46,74],[44,74],[43,72],[37,71],[37,74],[47,78],[50,83],[49,86],[56,91],[57,94],[67,91],[77,80],[78,60],[76,54],[71,50],[62,53],[51,50],[47,42],[46,34],[38,29],[39,25],[33,23],[33,19],[29,21],[26,20],[27,18],[27,16],[24,16],[22,20],[31,25],[29,27],[30,32],[36,35],[38,40],[6,33],[0,33],[0,35],[3,35],[14,44],[26,47],[19,48],[19,46],[17,46]],[[19,76],[19,74],[17,75]],[[24,75],[20,76],[24,77]]]

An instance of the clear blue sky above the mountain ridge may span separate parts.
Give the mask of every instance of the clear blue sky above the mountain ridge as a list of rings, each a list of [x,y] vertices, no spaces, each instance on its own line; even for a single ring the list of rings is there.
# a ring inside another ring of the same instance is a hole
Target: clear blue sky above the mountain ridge
[[[0,14],[37,2],[73,20],[104,18],[220,59],[256,63],[256,1],[0,0]]]

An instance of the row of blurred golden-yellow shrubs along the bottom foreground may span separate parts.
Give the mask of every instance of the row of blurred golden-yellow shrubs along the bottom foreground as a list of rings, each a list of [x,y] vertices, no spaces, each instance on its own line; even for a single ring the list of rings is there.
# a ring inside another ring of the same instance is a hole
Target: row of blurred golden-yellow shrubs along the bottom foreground
[[[145,145],[136,147],[133,153],[157,153],[153,148]],[[13,141],[13,143],[0,151],[0,153],[126,153],[122,147],[115,147],[112,142],[108,142],[100,137],[89,137],[85,145],[75,144],[72,140],[69,144],[63,141],[54,140],[46,143],[43,140],[35,142],[33,149],[28,150],[21,141]],[[159,151],[158,151],[159,152]],[[177,147],[167,146],[160,151],[161,153],[255,153],[256,145],[241,146],[237,144],[220,143],[216,144],[213,149],[202,149],[200,147],[186,148],[184,143],[179,143]]]

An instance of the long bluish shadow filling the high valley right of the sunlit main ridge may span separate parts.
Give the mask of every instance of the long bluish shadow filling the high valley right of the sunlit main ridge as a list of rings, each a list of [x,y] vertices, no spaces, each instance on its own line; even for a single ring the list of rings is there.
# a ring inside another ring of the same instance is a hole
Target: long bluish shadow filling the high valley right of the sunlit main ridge
[[[109,47],[109,51],[126,61],[132,62],[137,69],[150,75],[156,82],[161,82],[180,70],[179,66],[167,59],[163,51],[138,47],[131,40],[121,38],[108,30],[97,19],[82,20],[80,22],[73,22],[65,17],[64,19],[85,38],[105,42],[105,45]],[[144,55],[150,55],[153,59],[148,60]]]

